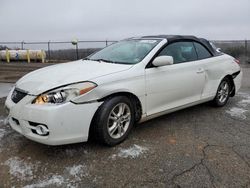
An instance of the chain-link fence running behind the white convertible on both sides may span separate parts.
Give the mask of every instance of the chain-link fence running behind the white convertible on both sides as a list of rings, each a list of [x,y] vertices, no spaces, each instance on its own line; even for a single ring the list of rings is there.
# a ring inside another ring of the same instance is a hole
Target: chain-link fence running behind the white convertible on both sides
[[[104,48],[116,41],[92,40],[92,41],[47,41],[47,42],[0,42],[0,50],[29,49],[44,50],[47,62],[58,62],[80,59]],[[250,62],[250,40],[214,40],[212,41],[222,52],[230,54],[241,60],[242,63]]]

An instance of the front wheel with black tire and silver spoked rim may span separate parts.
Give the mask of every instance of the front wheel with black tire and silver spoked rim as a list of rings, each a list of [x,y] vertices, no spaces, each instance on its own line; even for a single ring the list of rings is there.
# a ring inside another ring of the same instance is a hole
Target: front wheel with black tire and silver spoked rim
[[[134,112],[134,105],[125,96],[106,99],[94,117],[95,138],[109,146],[123,142],[134,125]]]

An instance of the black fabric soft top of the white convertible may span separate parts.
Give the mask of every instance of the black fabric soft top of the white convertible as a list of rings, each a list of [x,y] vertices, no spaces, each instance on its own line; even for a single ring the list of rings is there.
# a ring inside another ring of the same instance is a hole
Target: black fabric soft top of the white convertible
[[[203,46],[205,46],[214,56],[221,55],[220,52],[218,52],[216,49],[212,47],[210,42],[204,38],[197,38],[192,35],[151,35],[151,36],[143,36],[141,38],[162,38],[167,39],[168,43],[173,43],[177,41],[195,41],[198,43],[201,43]]]

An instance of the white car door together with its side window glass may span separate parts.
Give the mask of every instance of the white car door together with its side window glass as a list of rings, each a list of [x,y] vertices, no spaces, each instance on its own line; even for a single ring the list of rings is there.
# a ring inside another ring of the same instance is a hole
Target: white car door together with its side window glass
[[[172,56],[173,65],[145,69],[147,115],[200,100],[204,70],[190,41],[168,44],[157,56]]]

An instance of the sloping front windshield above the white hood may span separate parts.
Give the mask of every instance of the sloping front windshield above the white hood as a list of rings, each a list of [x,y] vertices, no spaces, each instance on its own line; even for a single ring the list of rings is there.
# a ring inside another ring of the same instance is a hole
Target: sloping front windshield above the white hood
[[[88,59],[110,63],[136,64],[142,61],[159,41],[154,39],[120,41],[96,52]]]

